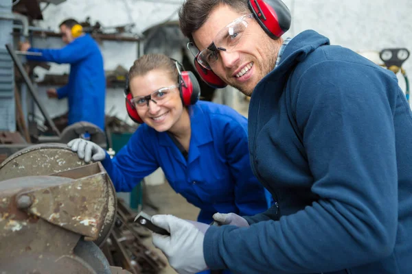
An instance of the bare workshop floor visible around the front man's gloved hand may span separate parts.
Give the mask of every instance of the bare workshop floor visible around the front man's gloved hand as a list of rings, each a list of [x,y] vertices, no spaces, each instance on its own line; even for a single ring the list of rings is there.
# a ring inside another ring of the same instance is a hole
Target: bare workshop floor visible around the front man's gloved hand
[[[146,186],[146,192],[148,193],[150,201],[159,207],[159,214],[172,214],[182,219],[196,220],[199,209],[187,203],[186,199],[181,195],[176,194],[168,183],[157,186]],[[144,208],[143,210],[148,214],[155,214],[151,208]],[[146,238],[144,243],[148,247],[156,249],[152,245],[151,237]],[[156,249],[156,251],[165,258],[159,249]],[[176,274],[176,271],[168,265],[168,267],[159,274]]]

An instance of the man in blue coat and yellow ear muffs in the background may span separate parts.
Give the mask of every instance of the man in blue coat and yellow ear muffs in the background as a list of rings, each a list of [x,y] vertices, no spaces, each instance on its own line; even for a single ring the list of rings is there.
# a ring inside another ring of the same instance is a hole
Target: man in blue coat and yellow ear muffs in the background
[[[67,97],[69,122],[93,123],[104,130],[104,99],[106,79],[103,58],[98,44],[88,34],[79,33],[76,20],[67,19],[60,24],[62,40],[67,44],[62,49],[35,49],[29,42],[21,45],[22,51],[40,52],[41,56],[27,55],[28,60],[70,64],[69,83],[66,86],[47,90],[49,98]],[[72,32],[73,29],[73,32]]]

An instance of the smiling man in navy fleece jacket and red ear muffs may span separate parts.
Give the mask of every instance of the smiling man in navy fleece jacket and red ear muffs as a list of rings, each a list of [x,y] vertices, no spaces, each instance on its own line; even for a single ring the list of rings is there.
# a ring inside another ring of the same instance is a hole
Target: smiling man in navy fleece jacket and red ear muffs
[[[412,273],[412,114],[396,75],[311,30],[279,38],[284,4],[256,3],[261,18],[245,0],[187,0],[179,16],[201,74],[251,95],[251,165],[277,205],[216,214],[220,227],[155,215],[171,236],[153,242],[179,273]]]

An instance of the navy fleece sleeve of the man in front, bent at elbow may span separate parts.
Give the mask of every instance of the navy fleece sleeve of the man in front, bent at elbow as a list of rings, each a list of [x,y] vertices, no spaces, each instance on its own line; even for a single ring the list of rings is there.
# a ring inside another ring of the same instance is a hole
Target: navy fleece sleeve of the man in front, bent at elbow
[[[407,105],[400,95],[395,77],[377,68],[330,60],[311,66],[292,108],[319,200],[279,221],[210,227],[207,266],[324,273],[389,256],[398,225],[393,106]]]

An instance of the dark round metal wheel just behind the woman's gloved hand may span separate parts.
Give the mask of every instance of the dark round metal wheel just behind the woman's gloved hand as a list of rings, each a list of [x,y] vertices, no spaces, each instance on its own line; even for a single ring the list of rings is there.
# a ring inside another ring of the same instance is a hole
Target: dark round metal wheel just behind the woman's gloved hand
[[[60,135],[60,142],[67,144],[67,142],[70,142],[73,139],[84,138],[85,134],[89,134],[87,140],[98,144],[100,147],[106,148],[106,134],[104,134],[102,129],[92,123],[84,121],[74,123],[63,129],[62,134]]]

